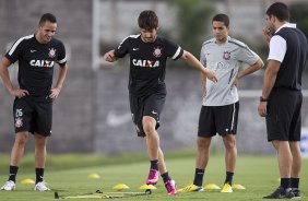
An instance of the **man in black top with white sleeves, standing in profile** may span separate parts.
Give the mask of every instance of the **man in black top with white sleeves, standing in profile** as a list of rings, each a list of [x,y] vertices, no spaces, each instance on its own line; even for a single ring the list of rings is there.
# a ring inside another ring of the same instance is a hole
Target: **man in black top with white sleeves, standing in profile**
[[[287,5],[273,3],[263,28],[270,43],[259,115],[266,118],[268,141],[277,152],[281,186],[263,199],[300,198],[301,75],[308,54],[307,38],[291,24]],[[274,32],[273,32],[274,31]]]

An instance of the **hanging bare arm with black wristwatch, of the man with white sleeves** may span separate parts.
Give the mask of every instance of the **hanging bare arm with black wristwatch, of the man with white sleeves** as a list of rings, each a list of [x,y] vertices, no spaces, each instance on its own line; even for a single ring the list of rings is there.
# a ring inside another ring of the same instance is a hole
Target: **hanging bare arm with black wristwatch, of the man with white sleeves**
[[[269,60],[268,68],[264,72],[264,80],[263,80],[263,90],[262,90],[262,97],[266,99],[276,82],[277,73],[281,68],[281,62],[276,60]],[[261,102],[258,107],[259,115],[261,117],[265,117],[268,102]]]

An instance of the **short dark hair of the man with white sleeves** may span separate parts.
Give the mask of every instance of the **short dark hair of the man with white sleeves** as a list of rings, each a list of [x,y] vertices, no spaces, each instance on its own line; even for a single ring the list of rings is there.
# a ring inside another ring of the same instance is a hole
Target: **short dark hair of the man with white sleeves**
[[[266,11],[266,15],[274,15],[276,16],[281,22],[283,21],[289,21],[289,11],[286,4],[282,2],[275,2],[271,4],[271,7]]]

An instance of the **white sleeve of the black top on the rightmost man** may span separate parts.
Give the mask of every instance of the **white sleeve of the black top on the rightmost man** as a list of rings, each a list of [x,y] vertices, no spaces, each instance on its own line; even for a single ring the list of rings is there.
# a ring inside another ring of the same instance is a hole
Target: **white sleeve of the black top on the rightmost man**
[[[275,35],[270,40],[270,54],[268,60],[276,60],[282,62],[286,52],[286,40]]]

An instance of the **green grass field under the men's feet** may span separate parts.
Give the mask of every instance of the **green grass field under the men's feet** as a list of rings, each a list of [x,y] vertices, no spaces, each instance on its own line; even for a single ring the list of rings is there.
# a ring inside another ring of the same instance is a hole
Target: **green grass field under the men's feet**
[[[194,157],[169,157],[166,154],[167,166],[170,176],[177,181],[177,187],[185,187],[193,179]],[[303,174],[300,180],[301,200],[308,200],[308,161],[303,163]],[[1,166],[2,168],[2,166]],[[123,182],[130,187],[125,192],[142,192],[139,189],[144,184],[147,176],[149,163],[116,163],[115,165],[102,165],[94,167],[66,168],[64,170],[49,169],[45,174],[48,186],[62,196],[75,196],[86,192],[102,190],[104,192],[115,191],[112,187]],[[96,173],[100,175],[99,179],[87,178],[88,174]],[[0,176],[0,182],[5,181],[7,174]],[[204,177],[204,185],[214,182],[222,186],[225,177],[224,157],[212,156]],[[34,173],[20,172],[17,176],[16,191],[0,191],[1,201],[48,201],[55,200],[54,192],[35,192],[33,185],[22,185],[20,181],[25,178],[34,179]],[[245,186],[246,190],[235,190],[233,193],[221,193],[220,191],[187,192],[178,193],[176,197],[169,197],[166,193],[163,181],[159,180],[157,189],[147,197],[125,198],[121,200],[236,200],[249,201],[261,200],[263,196],[269,194],[279,186],[279,173],[276,159],[273,156],[238,156],[237,170],[234,177],[234,184]],[[95,200],[95,199],[70,199],[70,200]]]

